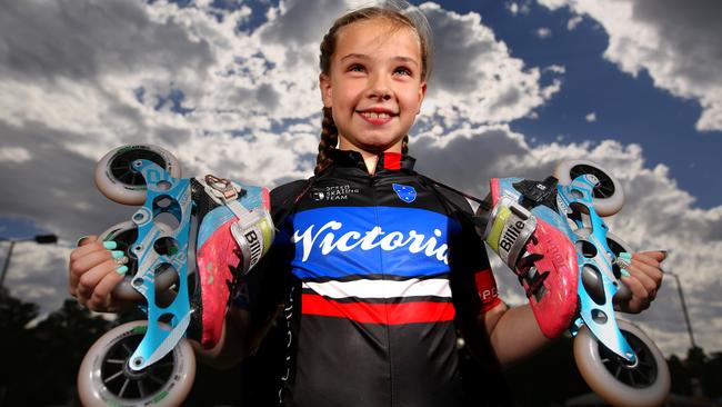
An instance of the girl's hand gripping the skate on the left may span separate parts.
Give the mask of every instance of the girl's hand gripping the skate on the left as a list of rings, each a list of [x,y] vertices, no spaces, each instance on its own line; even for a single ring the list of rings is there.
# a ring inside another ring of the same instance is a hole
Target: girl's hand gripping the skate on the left
[[[93,311],[114,312],[121,302],[113,299],[111,291],[128,272],[128,259],[116,250],[112,241],[100,241],[97,236],[87,236],[70,252],[68,265],[68,290],[78,302]]]

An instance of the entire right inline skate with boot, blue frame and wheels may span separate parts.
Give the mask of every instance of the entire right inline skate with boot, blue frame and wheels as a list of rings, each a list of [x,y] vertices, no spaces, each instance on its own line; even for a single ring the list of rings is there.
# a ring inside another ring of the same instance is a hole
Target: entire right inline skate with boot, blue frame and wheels
[[[606,403],[660,405],[670,390],[666,361],[614,309],[631,296],[619,259],[632,250],[602,220],[624,202],[619,181],[595,163],[563,161],[543,181],[492,179],[490,197],[484,239],[519,277],[541,331],[574,337],[576,366]]]

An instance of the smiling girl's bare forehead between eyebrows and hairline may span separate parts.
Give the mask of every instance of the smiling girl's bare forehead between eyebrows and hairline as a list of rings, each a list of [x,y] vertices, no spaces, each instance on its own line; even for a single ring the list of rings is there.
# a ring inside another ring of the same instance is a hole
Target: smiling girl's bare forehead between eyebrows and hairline
[[[417,31],[385,18],[360,20],[342,27],[337,34],[335,57],[349,53],[412,58],[421,62],[421,42]]]

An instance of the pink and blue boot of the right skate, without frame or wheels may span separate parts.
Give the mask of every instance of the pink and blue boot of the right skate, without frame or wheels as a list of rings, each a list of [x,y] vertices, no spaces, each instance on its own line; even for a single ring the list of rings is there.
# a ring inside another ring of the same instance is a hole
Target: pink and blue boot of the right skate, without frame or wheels
[[[491,180],[492,211],[484,239],[517,274],[544,336],[554,338],[576,310],[576,250],[559,225],[534,215],[551,211],[556,181]],[[554,202],[555,205],[555,202]]]

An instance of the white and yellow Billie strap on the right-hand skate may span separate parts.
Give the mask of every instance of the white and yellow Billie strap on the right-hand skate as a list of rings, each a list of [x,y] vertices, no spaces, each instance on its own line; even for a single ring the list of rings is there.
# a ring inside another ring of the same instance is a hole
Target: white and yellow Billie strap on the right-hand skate
[[[513,198],[503,196],[491,212],[485,240],[501,260],[514,270],[534,229],[537,218]]]

